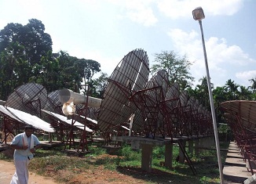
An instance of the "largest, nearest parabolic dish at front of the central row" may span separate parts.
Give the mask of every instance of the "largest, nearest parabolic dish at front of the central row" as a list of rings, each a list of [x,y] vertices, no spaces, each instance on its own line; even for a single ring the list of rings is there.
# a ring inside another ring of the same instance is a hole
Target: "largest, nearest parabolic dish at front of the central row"
[[[137,107],[130,103],[133,92],[145,87],[149,75],[148,55],[143,49],[135,49],[123,57],[104,91],[104,99],[98,114],[102,132],[112,132],[128,121]]]

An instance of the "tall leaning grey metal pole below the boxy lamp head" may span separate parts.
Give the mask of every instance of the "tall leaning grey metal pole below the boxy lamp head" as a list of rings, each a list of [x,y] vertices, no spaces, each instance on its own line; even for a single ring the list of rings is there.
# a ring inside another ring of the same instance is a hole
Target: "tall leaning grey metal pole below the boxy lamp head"
[[[218,140],[218,127],[217,127],[217,121],[216,121],[215,110],[214,110],[214,99],[213,99],[213,94],[211,92],[210,74],[209,74],[209,68],[208,68],[208,63],[207,63],[207,50],[205,48],[204,37],[203,37],[202,20],[199,20],[199,25],[200,25],[200,30],[201,30],[201,34],[202,34],[205,67],[207,69],[207,84],[208,84],[208,92],[209,92],[209,98],[210,98],[211,116],[213,118],[213,124],[214,124],[214,136],[215,136],[215,144],[216,144],[217,156],[218,156],[218,169],[220,172],[221,184],[223,184],[224,180],[223,180],[222,163],[221,163],[221,150],[220,150],[219,140]]]

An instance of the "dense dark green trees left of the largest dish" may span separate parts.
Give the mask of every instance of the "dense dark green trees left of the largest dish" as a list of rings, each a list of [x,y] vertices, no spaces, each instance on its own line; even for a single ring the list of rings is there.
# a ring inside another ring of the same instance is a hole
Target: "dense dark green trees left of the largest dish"
[[[31,19],[27,25],[8,23],[0,31],[0,99],[6,100],[13,90],[27,82],[43,85],[47,92],[70,88],[93,96],[93,75],[101,71],[95,60],[79,59],[67,52],[52,52],[52,39],[45,33],[40,20]]]

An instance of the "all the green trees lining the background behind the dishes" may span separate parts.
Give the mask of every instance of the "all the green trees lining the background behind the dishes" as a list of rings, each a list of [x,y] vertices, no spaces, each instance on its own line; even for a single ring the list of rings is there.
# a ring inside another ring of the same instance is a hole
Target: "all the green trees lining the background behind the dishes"
[[[94,79],[94,74],[101,71],[101,64],[95,60],[79,59],[69,56],[68,52],[52,52],[52,39],[45,33],[45,26],[40,20],[31,19],[27,25],[8,23],[0,31],[0,99],[6,100],[11,92],[27,82],[43,85],[47,92],[60,88],[70,88],[74,92],[84,92],[90,96],[102,98],[108,75],[101,73]],[[170,85],[177,82],[181,91],[187,90],[200,104],[210,110],[207,78],[192,86],[194,78],[189,73],[192,62],[186,56],[178,56],[174,51],[155,53],[152,73],[166,70]],[[256,78],[251,86],[237,85],[229,79],[221,87],[213,88],[214,106],[219,123],[220,104],[229,100],[255,100]],[[89,89],[89,90],[88,90]],[[87,91],[88,90],[88,91]]]

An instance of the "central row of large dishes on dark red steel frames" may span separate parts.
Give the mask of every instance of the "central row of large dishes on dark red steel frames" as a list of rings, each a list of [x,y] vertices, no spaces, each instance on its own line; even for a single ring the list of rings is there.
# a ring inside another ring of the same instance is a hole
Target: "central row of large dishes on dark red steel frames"
[[[214,133],[210,112],[188,92],[181,92],[178,84],[170,84],[165,70],[149,81],[148,74],[148,56],[142,49],[129,52],[115,68],[97,117],[106,139],[122,135],[122,126],[150,139]]]

